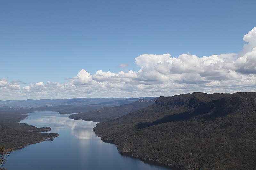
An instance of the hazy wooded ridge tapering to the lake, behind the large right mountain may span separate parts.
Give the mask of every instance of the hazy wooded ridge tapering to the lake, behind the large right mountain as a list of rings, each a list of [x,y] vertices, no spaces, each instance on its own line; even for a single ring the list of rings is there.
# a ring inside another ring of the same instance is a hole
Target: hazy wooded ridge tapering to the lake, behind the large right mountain
[[[70,115],[71,119],[83,119],[90,121],[102,121],[102,120],[111,120],[117,117],[123,116],[127,113],[134,112],[144,107],[152,105],[156,99],[139,99],[136,102],[124,104],[115,107],[104,107],[101,109],[95,109],[86,113],[78,113]]]

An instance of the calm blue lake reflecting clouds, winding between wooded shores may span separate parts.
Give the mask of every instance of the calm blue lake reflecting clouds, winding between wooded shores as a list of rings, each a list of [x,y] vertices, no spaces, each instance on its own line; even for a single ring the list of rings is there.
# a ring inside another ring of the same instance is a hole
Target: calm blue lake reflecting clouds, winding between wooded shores
[[[44,141],[13,151],[7,158],[8,170],[45,169],[107,169],[107,170],[167,170],[166,167],[149,164],[123,156],[114,144],[101,141],[92,131],[96,122],[69,119],[58,112],[28,113],[28,123],[36,127],[51,127],[59,133],[53,141]]]

